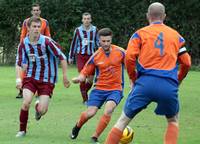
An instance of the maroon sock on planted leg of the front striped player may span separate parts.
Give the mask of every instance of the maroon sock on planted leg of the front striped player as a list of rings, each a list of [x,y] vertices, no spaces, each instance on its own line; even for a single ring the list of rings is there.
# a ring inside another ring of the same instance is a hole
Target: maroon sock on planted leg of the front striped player
[[[19,121],[20,121],[20,131],[26,132],[27,121],[28,121],[28,111],[21,109]]]

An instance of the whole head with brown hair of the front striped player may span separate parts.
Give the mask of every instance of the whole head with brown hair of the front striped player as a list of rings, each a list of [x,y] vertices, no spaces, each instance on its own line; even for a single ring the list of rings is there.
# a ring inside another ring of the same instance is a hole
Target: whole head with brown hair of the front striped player
[[[39,36],[41,29],[41,20],[39,17],[30,17],[27,26],[30,36]]]

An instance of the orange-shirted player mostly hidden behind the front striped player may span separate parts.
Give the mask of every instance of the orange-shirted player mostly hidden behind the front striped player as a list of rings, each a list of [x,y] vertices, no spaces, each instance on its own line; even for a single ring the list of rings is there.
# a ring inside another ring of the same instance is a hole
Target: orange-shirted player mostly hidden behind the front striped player
[[[46,35],[46,36],[51,36],[50,35],[50,29],[49,29],[49,23],[46,19],[44,18],[41,18],[40,17],[40,14],[41,14],[41,10],[40,10],[40,5],[39,4],[32,4],[32,10],[31,10],[31,14],[32,16],[35,16],[35,17],[39,17],[41,22],[42,22],[42,25],[41,25],[41,29],[40,29],[40,33],[43,34],[43,35]],[[28,20],[30,18],[27,18],[24,20],[23,22],[23,25],[22,25],[22,31],[21,31],[21,35],[20,35],[20,42],[23,41],[23,39],[27,36],[28,34],[28,28],[27,28],[27,23],[28,23]],[[24,62],[24,64],[26,64],[26,62]],[[26,75],[26,69],[22,70],[20,72],[21,74],[21,79],[23,80],[23,78],[25,77]],[[19,90],[19,94],[16,96],[16,98],[22,98],[22,90],[20,89]]]

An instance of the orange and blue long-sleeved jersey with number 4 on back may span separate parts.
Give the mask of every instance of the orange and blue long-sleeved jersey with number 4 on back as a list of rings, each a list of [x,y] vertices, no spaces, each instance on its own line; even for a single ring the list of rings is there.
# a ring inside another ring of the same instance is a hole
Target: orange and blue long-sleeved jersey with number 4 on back
[[[152,23],[138,30],[131,37],[126,53],[129,77],[133,81],[136,79],[134,69],[138,58],[139,76],[142,74],[155,75],[177,81],[178,58],[184,57],[179,61],[181,64],[188,67],[191,65],[190,56],[186,53],[184,44],[184,38],[177,31],[160,22]],[[188,70],[182,75],[185,76]]]

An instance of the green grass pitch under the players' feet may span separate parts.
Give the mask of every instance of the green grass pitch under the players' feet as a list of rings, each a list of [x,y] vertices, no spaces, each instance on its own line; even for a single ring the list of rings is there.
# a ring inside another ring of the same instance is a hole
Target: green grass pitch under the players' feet
[[[69,67],[70,79],[77,75],[74,67]],[[61,72],[59,73],[61,77]],[[127,78],[126,78],[127,79]],[[108,128],[100,137],[103,143],[108,131],[121,113],[129,88],[126,81],[125,98],[117,107]],[[191,71],[180,86],[180,136],[179,144],[200,143],[200,72]],[[69,89],[62,85],[62,79],[56,85],[48,113],[37,122],[34,119],[34,102],[31,105],[28,122],[28,133],[25,138],[17,139],[15,134],[19,124],[19,110],[22,100],[15,99],[15,68],[0,67],[0,144],[87,144],[93,134],[97,121],[103,113],[101,109],[81,129],[77,140],[70,140],[71,128],[86,109],[81,103],[79,86],[72,84]],[[161,144],[165,131],[164,117],[154,114],[155,104],[130,123],[135,131],[135,144]]]

